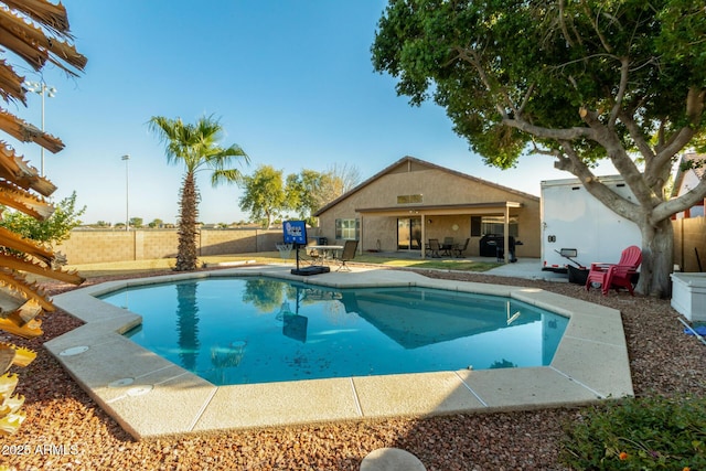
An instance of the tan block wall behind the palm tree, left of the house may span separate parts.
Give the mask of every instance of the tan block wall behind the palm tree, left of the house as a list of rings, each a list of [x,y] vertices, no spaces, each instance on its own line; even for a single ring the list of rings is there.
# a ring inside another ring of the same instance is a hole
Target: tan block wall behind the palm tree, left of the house
[[[202,229],[196,244],[201,256],[272,251],[282,240],[281,229]],[[176,229],[72,231],[54,247],[72,265],[150,260],[176,256]]]

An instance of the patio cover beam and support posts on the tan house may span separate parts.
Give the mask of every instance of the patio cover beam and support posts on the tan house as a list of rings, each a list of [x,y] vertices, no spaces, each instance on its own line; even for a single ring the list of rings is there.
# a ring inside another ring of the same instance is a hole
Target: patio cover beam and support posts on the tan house
[[[421,217],[421,239],[426,240],[427,216],[452,215],[501,215],[504,218],[504,257],[505,264],[510,263],[510,210],[522,207],[523,204],[515,201],[501,201],[491,203],[461,203],[461,204],[408,204],[398,206],[356,207],[355,212],[365,216],[397,216]],[[364,224],[361,221],[361,234]],[[426,258],[426,247],[421,244],[421,258]]]

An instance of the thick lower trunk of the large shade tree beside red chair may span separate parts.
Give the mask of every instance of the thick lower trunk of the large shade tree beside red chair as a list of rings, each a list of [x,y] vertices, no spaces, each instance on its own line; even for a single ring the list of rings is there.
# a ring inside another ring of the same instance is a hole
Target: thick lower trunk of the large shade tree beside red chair
[[[667,298],[672,292],[670,274],[674,267],[674,229],[672,221],[657,224],[643,223],[642,267],[637,291],[657,298]]]

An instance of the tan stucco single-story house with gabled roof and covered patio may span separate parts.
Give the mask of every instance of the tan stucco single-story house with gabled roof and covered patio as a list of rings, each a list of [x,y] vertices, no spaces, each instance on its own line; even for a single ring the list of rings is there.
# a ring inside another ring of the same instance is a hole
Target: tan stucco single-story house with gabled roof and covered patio
[[[418,250],[430,238],[470,238],[464,255],[482,253],[485,235],[522,242],[518,257],[539,257],[539,197],[405,157],[319,210],[320,235],[360,240],[362,251]],[[507,250],[505,250],[507,254]],[[494,249],[493,254],[494,255]]]

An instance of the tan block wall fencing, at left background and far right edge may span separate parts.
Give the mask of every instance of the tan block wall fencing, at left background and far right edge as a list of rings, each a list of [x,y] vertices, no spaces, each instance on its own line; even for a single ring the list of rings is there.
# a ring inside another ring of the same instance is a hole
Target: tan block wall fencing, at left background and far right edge
[[[674,264],[682,271],[706,271],[706,217],[672,221]],[[314,228],[309,236],[315,237]],[[199,255],[275,251],[281,229],[202,229],[196,238]],[[72,231],[71,238],[54,247],[69,265],[149,260],[176,257],[176,229]],[[700,267],[699,267],[700,263]]]

